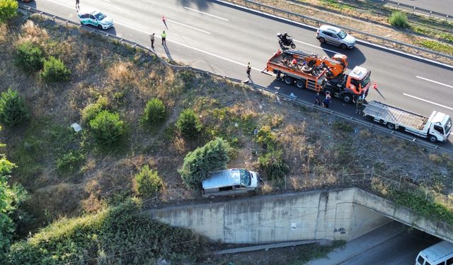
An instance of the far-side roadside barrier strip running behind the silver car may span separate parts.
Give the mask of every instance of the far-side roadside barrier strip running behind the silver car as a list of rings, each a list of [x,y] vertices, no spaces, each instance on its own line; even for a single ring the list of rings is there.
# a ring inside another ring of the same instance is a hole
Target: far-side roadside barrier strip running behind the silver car
[[[248,10],[257,11],[259,13],[267,13],[272,16],[278,16],[280,18],[285,18],[297,23],[303,23],[311,30],[316,30],[319,28],[320,25],[329,24],[324,20],[319,20],[316,18],[311,18],[309,16],[303,16],[299,13],[294,13],[291,11],[286,11],[280,8],[276,8],[274,6],[269,6],[267,4],[261,4],[256,1],[250,0],[214,0],[221,3],[231,3],[234,6],[239,6],[242,8],[246,8]],[[391,40],[386,37],[381,37],[377,35],[372,35],[369,33],[365,33],[360,30],[355,30],[353,28],[343,27],[349,33],[353,33],[357,37],[362,38],[362,40],[357,40],[357,42],[363,43],[371,43],[374,45],[382,45],[384,47],[390,47],[392,49],[398,49],[403,52],[413,54],[418,57],[423,57],[425,59],[436,59],[437,61],[442,61],[447,64],[451,64],[453,62],[453,56],[448,54],[442,54],[440,52],[435,52],[430,49],[425,49],[423,47],[417,47],[414,45],[410,45],[404,42],[398,42],[397,40]]]

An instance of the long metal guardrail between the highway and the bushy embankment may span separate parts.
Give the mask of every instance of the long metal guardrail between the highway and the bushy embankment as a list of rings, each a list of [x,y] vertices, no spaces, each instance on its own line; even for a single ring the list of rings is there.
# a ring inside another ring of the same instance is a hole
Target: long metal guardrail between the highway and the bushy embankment
[[[232,81],[232,82],[236,82],[236,83],[243,83],[243,81],[241,81],[240,79],[231,78],[229,76],[219,75],[218,73],[212,73],[210,71],[197,69],[197,68],[194,68],[192,66],[178,66],[178,65],[170,64],[165,59],[162,59],[161,57],[159,57],[159,55],[156,52],[154,52],[152,49],[149,49],[149,47],[145,47],[144,45],[139,45],[137,42],[132,42],[131,40],[125,40],[125,39],[123,39],[121,37],[117,37],[115,35],[111,35],[109,33],[105,33],[105,32],[103,32],[101,30],[98,30],[98,29],[88,28],[85,25],[81,25],[80,23],[76,23],[74,21],[67,20],[66,18],[60,18],[59,16],[54,16],[54,15],[52,15],[50,13],[39,11],[38,9],[31,8],[29,6],[19,6],[19,8],[21,8],[23,11],[26,11],[26,12],[29,12],[29,13],[36,13],[36,14],[39,14],[40,16],[47,16],[49,18],[52,18],[52,20],[54,20],[54,21],[55,20],[61,20],[62,22],[66,23],[66,25],[69,25],[69,24],[75,25],[75,26],[77,26],[77,27],[79,27],[79,28],[81,28],[83,30],[86,30],[89,33],[96,33],[96,34],[101,35],[103,37],[108,37],[108,38],[111,38],[113,40],[117,40],[117,41],[119,41],[122,44],[125,43],[127,45],[130,45],[134,49],[137,49],[137,48],[142,49],[143,51],[147,52],[148,54],[149,53],[154,54],[154,56],[156,58],[158,58],[159,61],[161,61],[161,63],[166,64],[166,66],[169,66],[169,67],[171,67],[173,69],[190,70],[190,71],[195,71],[197,73],[207,74],[207,75],[210,75],[210,76],[216,76],[218,78],[224,78],[226,80],[229,80],[229,81]],[[345,114],[340,113],[340,112],[335,112],[333,110],[328,110],[326,108],[319,107],[319,106],[317,106],[317,105],[315,105],[313,103],[309,103],[309,102],[306,102],[304,100],[300,100],[297,97],[291,97],[290,95],[280,94],[280,92],[277,91],[277,90],[273,90],[273,89],[270,89],[270,88],[265,88],[263,86],[259,86],[259,85],[255,84],[255,83],[243,83],[243,84],[253,88],[254,90],[258,90],[261,93],[265,92],[265,93],[269,93],[270,95],[274,95],[275,99],[277,100],[277,102],[280,102],[280,98],[282,98],[283,100],[285,100],[287,102],[292,102],[293,104],[297,104],[297,105],[304,106],[304,107],[311,107],[312,109],[316,109],[316,110],[321,111],[321,112],[326,112],[328,114],[334,115],[334,116],[339,117],[341,119],[348,120],[349,122],[355,122],[356,124],[361,124],[362,126],[366,126],[369,129],[376,129],[377,131],[384,132],[385,134],[390,134],[390,135],[396,136],[399,139],[403,139],[403,140],[406,140],[406,141],[411,141],[413,143],[418,144],[419,146],[423,146],[425,148],[430,148],[430,149],[433,149],[433,150],[436,150],[436,151],[440,151],[442,153],[447,153],[449,155],[453,155],[453,150],[449,150],[447,148],[443,148],[443,147],[438,146],[436,144],[429,143],[428,141],[423,141],[422,139],[415,138],[415,137],[410,136],[408,134],[403,134],[400,131],[392,131],[390,129],[387,129],[384,126],[379,126],[379,125],[378,126],[374,126],[375,125],[374,123],[366,122],[364,120],[357,119],[356,117],[350,117],[350,116],[345,115]]]

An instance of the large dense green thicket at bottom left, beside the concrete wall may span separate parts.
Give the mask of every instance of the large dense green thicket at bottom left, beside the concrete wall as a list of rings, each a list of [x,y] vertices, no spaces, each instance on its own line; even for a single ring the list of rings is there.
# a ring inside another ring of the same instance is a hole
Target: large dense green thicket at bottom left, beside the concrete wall
[[[62,218],[28,240],[11,246],[9,262],[19,264],[156,264],[199,261],[206,240],[140,213],[137,200],[79,218]]]

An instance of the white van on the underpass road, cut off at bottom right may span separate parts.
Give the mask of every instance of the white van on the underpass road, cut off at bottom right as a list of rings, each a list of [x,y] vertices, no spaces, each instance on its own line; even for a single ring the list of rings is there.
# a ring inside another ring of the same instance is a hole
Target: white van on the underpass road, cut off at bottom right
[[[423,249],[415,259],[415,265],[452,265],[453,243],[442,241]]]

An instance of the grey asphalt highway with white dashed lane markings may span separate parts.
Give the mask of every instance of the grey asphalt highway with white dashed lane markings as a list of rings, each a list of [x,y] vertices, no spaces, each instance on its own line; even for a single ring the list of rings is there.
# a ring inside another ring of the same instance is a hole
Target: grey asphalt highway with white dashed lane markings
[[[79,21],[75,1],[37,0],[29,4],[42,11]],[[435,64],[416,57],[367,44],[342,51],[331,45],[320,45],[314,30],[280,18],[243,11],[215,1],[189,0],[81,0],[81,10],[100,10],[112,17],[115,27],[106,32],[150,46],[149,34],[156,33],[156,52],[190,66],[233,78],[246,79],[246,64],[251,62],[251,81],[294,93],[299,99],[312,102],[314,92],[298,90],[261,73],[268,58],[277,51],[277,33],[287,32],[296,40],[297,49],[332,56],[342,52],[348,56],[348,69],[360,65],[372,71],[372,90],[367,100],[379,100],[420,114],[432,110],[453,116],[453,67]],[[166,17],[166,23],[161,20]],[[167,49],[159,39],[166,30]],[[354,114],[352,105],[334,100],[331,108]],[[358,117],[358,116],[357,116]],[[452,148],[453,136],[442,146]]]

